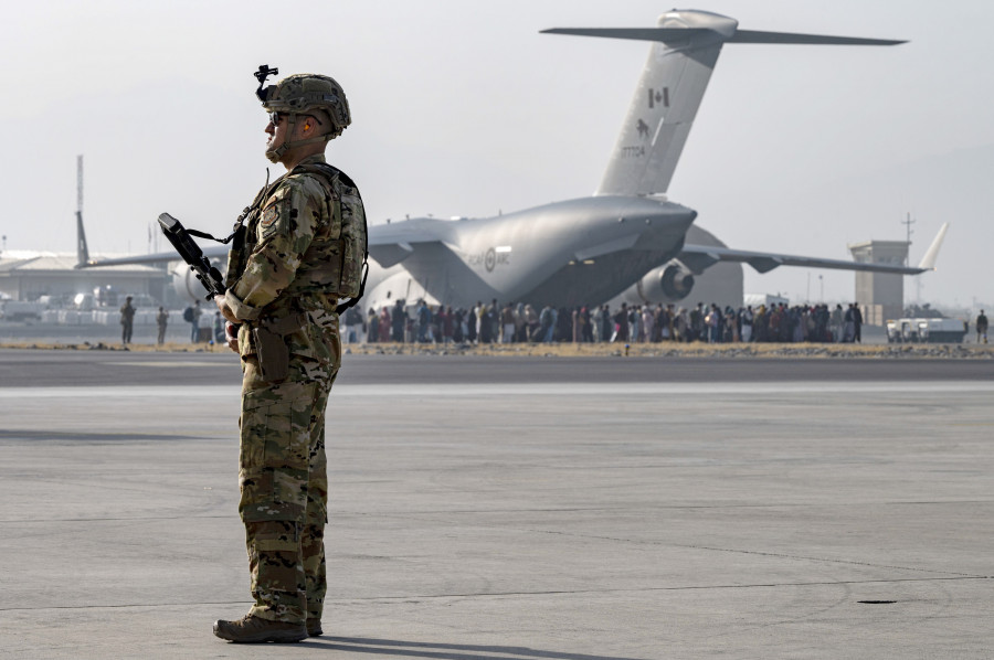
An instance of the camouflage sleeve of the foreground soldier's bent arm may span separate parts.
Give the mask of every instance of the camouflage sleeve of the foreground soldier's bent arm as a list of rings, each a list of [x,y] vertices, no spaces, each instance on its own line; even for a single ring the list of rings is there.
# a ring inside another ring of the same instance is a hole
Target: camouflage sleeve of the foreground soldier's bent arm
[[[309,179],[287,179],[263,204],[257,243],[244,273],[225,294],[241,320],[257,319],[263,308],[286,289],[314,239],[325,198],[320,185]]]

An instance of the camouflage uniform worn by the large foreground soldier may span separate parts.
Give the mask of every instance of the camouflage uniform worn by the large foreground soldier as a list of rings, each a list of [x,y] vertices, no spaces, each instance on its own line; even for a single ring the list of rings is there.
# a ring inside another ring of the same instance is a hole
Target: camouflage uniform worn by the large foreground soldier
[[[239,512],[255,598],[250,615],[289,622],[321,616],[325,407],[341,364],[336,307],[339,297],[356,295],[346,283],[358,283],[366,242],[358,190],[322,170],[324,162],[310,156],[260,191],[245,247],[229,258],[225,295],[245,321]],[[253,333],[260,327],[283,336],[285,377],[263,375]]]

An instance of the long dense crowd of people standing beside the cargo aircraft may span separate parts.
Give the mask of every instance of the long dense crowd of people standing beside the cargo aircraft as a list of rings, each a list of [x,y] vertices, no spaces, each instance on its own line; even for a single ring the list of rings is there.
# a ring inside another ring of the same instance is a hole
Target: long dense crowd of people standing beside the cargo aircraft
[[[723,309],[698,302],[536,309],[522,302],[477,302],[469,309],[430,306],[419,300],[413,308],[398,300],[379,312],[352,308],[346,312],[345,340],[405,343],[516,343],[516,342],[859,342],[863,313],[859,306],[784,304]]]

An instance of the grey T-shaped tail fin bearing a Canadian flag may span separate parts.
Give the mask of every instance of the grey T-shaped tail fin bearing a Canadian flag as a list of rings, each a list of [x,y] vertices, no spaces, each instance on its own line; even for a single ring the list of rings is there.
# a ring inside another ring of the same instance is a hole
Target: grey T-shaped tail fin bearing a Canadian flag
[[[880,39],[739,30],[705,11],[670,11],[657,28],[556,28],[573,34],[655,42],[596,194],[649,195],[669,188],[711,72],[726,43],[893,45]]]

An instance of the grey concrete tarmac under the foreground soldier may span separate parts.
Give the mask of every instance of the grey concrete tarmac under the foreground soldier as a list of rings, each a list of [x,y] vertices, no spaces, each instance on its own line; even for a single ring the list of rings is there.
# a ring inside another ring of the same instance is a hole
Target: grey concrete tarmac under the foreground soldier
[[[988,361],[350,355],[325,636],[248,607],[237,366],[0,351],[0,658],[990,658]]]

